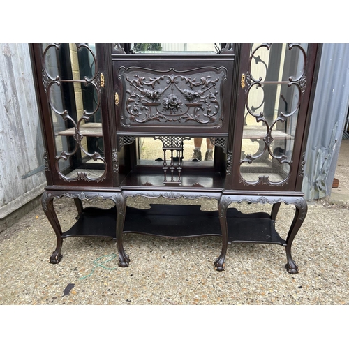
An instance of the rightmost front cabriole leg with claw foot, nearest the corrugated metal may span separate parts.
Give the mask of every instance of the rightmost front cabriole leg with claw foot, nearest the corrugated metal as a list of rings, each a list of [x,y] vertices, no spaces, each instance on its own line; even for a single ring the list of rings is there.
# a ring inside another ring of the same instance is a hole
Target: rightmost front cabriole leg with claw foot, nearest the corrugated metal
[[[292,225],[290,227],[290,231],[288,232],[288,237],[286,239],[286,258],[287,258],[287,264],[285,265],[287,271],[290,274],[297,274],[298,273],[298,267],[295,263],[295,261],[292,259],[291,255],[291,247],[292,242],[295,239],[295,236],[297,235],[297,232],[299,228],[301,228],[304,218],[306,217],[306,212],[308,211],[308,205],[306,204],[306,200],[304,198],[297,198],[295,202],[295,218],[293,218]]]

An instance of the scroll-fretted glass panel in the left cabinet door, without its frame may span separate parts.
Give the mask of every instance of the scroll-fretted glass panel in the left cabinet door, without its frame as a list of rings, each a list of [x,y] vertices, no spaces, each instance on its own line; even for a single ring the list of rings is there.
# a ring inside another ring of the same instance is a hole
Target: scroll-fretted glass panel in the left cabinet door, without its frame
[[[101,181],[104,158],[100,83],[94,44],[43,45],[43,83],[64,181]]]

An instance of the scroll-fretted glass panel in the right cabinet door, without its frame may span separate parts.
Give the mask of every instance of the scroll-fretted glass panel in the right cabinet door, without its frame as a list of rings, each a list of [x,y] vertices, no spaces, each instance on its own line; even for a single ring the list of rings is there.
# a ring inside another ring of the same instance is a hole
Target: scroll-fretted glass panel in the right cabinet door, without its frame
[[[253,44],[246,84],[240,177],[281,185],[292,171],[306,45]]]

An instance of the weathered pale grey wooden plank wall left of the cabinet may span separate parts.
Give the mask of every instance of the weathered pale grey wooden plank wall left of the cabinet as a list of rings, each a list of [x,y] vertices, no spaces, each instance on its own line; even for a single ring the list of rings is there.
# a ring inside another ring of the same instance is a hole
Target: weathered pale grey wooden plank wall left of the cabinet
[[[43,138],[27,44],[0,44],[0,219],[45,186]]]

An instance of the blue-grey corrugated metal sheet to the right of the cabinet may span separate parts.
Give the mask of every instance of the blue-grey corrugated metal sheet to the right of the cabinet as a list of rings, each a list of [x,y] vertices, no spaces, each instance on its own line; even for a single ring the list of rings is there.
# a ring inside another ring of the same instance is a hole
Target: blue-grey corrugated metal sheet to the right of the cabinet
[[[331,193],[348,105],[349,44],[324,44],[306,147],[307,200]]]

